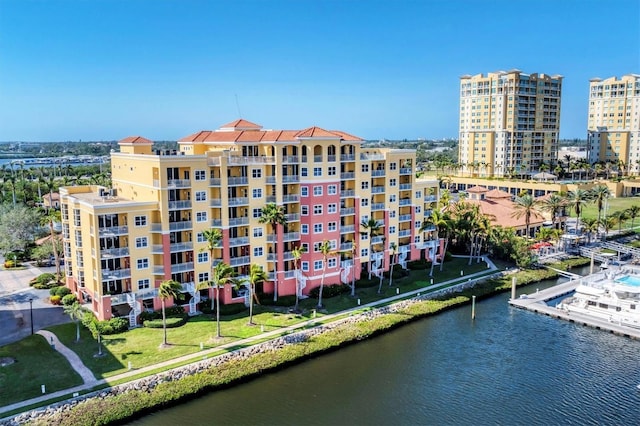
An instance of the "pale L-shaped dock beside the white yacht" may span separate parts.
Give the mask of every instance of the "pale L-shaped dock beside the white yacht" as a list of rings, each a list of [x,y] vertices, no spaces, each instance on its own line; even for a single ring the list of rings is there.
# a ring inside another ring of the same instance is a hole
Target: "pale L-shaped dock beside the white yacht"
[[[579,283],[579,280],[571,280],[566,283],[537,291],[533,294],[521,295],[520,298],[517,299],[510,299],[509,304],[516,308],[526,309],[552,318],[558,318],[575,324],[593,327],[598,330],[605,330],[612,334],[617,334],[618,336],[640,340],[640,329],[625,327],[617,323],[612,323],[581,313],[569,313],[564,310],[557,309],[555,306],[548,306],[546,304],[549,300],[573,293]]]

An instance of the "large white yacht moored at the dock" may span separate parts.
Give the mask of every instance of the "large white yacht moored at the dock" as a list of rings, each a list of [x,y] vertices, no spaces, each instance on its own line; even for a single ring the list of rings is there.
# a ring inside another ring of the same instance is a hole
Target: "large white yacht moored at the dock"
[[[580,279],[575,292],[557,306],[621,326],[640,328],[640,267],[610,265]]]

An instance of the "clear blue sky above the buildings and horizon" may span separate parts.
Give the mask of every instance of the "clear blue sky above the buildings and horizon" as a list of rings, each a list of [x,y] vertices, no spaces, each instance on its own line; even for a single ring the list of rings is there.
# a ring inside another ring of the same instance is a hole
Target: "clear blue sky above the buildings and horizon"
[[[239,116],[457,137],[463,74],[640,73],[638,0],[0,0],[0,141],[172,140]],[[237,99],[237,102],[236,102]]]

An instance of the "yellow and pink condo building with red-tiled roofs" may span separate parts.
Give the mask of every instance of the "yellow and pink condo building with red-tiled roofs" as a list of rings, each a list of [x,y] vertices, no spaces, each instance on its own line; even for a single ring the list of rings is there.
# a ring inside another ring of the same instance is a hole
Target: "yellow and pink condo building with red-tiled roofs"
[[[438,182],[416,179],[413,150],[368,149],[342,131],[265,130],[242,119],[182,138],[177,151],[153,150],[139,136],[119,145],[112,188],[60,191],[67,285],[101,319],[128,316],[135,325],[142,310],[159,308],[157,288],[167,279],[182,284],[178,303],[194,313],[213,297],[198,284],[220,261],[239,279],[260,265],[265,293],[300,288],[304,296],[323,274],[325,285],[351,283],[369,267],[381,273],[441,247],[432,227],[420,231]],[[268,203],[286,215],[276,232],[260,223]],[[370,219],[372,238],[361,226]],[[212,228],[222,233],[213,259],[203,235]],[[326,258],[324,241],[333,252]],[[246,303],[247,292],[227,285],[220,298]]]

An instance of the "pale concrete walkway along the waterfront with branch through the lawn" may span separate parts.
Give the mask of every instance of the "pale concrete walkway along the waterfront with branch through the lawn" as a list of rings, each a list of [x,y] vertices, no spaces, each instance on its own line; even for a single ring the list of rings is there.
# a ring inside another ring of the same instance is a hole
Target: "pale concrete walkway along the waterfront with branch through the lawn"
[[[412,290],[410,292],[401,293],[401,294],[398,294],[396,296],[388,297],[386,299],[378,300],[378,301],[371,302],[371,303],[368,303],[368,304],[365,304],[365,305],[361,305],[361,306],[356,306],[354,308],[351,308],[351,309],[348,309],[348,310],[345,310],[345,311],[340,311],[340,312],[337,312],[335,314],[325,315],[325,316],[322,316],[322,317],[317,318],[317,319],[311,319],[311,320],[308,320],[308,321],[303,321],[303,322],[300,322],[298,324],[295,324],[295,325],[292,325],[292,326],[289,326],[289,327],[286,327],[286,328],[280,328],[280,329],[277,329],[277,330],[261,333],[261,334],[258,334],[256,336],[249,337],[249,338],[246,338],[246,339],[236,340],[236,341],[233,341],[233,342],[226,343],[224,345],[216,346],[215,348],[211,348],[211,349],[195,352],[195,353],[192,353],[192,354],[189,354],[189,355],[184,355],[184,356],[181,356],[181,357],[178,357],[178,358],[173,358],[173,359],[170,359],[168,361],[164,361],[164,362],[160,362],[160,363],[157,363],[157,364],[149,365],[147,367],[132,369],[132,370],[127,371],[125,373],[121,373],[121,374],[118,374],[118,375],[115,375],[115,376],[111,376],[111,377],[108,377],[106,379],[96,380],[96,378],[93,376],[91,371],[89,371],[87,369],[87,367],[82,363],[80,358],[73,351],[68,349],[66,346],[62,345],[62,343],[60,343],[59,341],[57,341],[57,343],[55,343],[56,340],[57,340],[57,338],[55,338],[54,339],[54,345],[53,345],[54,349],[58,350],[62,355],[67,357],[67,359],[69,360],[69,363],[71,364],[71,366],[82,377],[82,379],[84,381],[84,384],[76,386],[74,388],[64,389],[64,390],[60,390],[60,391],[57,391],[57,392],[52,392],[52,393],[49,393],[49,394],[46,394],[46,395],[42,395],[42,396],[39,396],[39,397],[36,397],[36,398],[32,398],[32,399],[28,399],[28,400],[25,400],[25,401],[16,402],[14,404],[6,405],[4,407],[0,407],[0,415],[2,415],[3,413],[19,410],[21,408],[26,408],[26,407],[30,407],[30,406],[44,406],[48,402],[50,402],[50,401],[52,401],[54,399],[59,399],[59,398],[64,398],[64,397],[72,398],[73,395],[75,395],[76,393],[91,391],[92,389],[100,387],[102,385],[106,385],[106,387],[108,387],[110,383],[120,383],[123,380],[126,381],[126,379],[133,378],[134,376],[136,378],[140,378],[140,376],[144,375],[144,373],[150,373],[149,375],[151,375],[152,371],[154,371],[154,372],[157,372],[159,370],[168,371],[168,370],[171,369],[171,366],[183,366],[185,363],[188,363],[190,361],[191,362],[197,362],[197,361],[201,361],[203,358],[207,358],[209,356],[213,356],[214,354],[215,354],[215,356],[217,356],[217,355],[220,355],[221,352],[222,353],[226,353],[226,350],[231,350],[231,348],[233,348],[233,347],[246,347],[246,346],[249,346],[249,345],[252,345],[252,344],[263,342],[266,339],[275,339],[275,338],[281,337],[284,334],[288,334],[288,333],[290,333],[292,331],[296,331],[298,329],[307,327],[310,324],[328,323],[328,322],[334,321],[334,320],[336,320],[338,318],[344,317],[345,315],[351,315],[351,314],[353,314],[353,313],[355,313],[357,311],[361,311],[364,308],[375,308],[375,307],[378,307],[378,306],[384,306],[384,305],[393,303],[393,302],[401,300],[401,299],[409,299],[409,298],[417,296],[417,295],[426,295],[426,294],[429,294],[429,293],[437,293],[438,291],[441,291],[443,288],[447,288],[450,291],[456,291],[459,288],[467,287],[469,285],[472,285],[476,281],[489,278],[493,274],[499,272],[498,268],[488,258],[483,257],[482,261],[487,263],[487,270],[486,271],[476,272],[474,274],[461,276],[460,278],[456,278],[456,279],[453,279],[453,280],[436,283],[436,284],[433,284],[433,285],[430,285],[430,286],[427,286],[427,287],[423,287],[423,288],[420,288],[420,289],[417,289],[417,290]],[[429,278],[428,270],[424,271],[424,272],[427,273],[427,277],[426,278],[428,279]],[[46,334],[46,333],[48,333],[48,334]],[[44,331],[44,333],[43,333],[43,331],[39,331],[38,334],[42,335],[49,342],[50,342],[51,336],[53,335],[53,333],[48,332],[48,331]],[[53,336],[55,336],[55,335],[53,335]],[[75,357],[74,357],[74,355],[75,355]],[[176,367],[176,368],[178,368],[178,367]],[[83,371],[83,373],[81,373],[80,371]],[[12,418],[12,417],[14,417],[14,416],[11,416],[9,418]],[[8,420],[9,418],[6,418],[6,419],[1,419],[0,418],[0,422],[2,422],[3,420]]]

